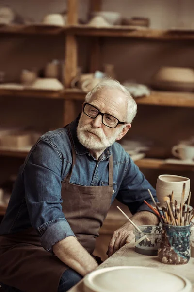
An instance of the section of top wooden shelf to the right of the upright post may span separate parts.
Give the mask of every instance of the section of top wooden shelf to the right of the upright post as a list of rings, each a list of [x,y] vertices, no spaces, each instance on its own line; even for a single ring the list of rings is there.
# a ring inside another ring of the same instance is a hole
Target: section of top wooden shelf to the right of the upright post
[[[159,40],[192,40],[194,30],[159,30],[144,27],[114,25],[110,27],[91,27],[87,25],[71,25],[67,29],[78,36],[96,37],[132,37]]]

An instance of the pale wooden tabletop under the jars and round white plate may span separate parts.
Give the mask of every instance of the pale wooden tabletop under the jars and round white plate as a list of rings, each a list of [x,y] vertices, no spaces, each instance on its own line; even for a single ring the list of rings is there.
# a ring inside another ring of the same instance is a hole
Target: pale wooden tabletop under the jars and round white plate
[[[134,242],[124,245],[113,256],[105,260],[97,269],[113,266],[145,266],[178,274],[190,280],[194,292],[194,258],[191,257],[186,265],[167,265],[158,260],[158,256],[144,256],[135,252]],[[68,290],[68,292],[84,292],[83,280]]]

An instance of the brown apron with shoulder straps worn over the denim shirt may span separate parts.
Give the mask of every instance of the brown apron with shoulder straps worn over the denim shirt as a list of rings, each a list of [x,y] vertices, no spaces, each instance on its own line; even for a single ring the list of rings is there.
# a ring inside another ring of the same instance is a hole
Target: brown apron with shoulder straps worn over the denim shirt
[[[68,130],[69,131],[69,130]],[[71,138],[70,132],[69,137]],[[76,154],[72,144],[72,168],[62,181],[61,197],[65,218],[81,245],[92,254],[113,194],[113,156],[109,159],[108,186],[69,183]],[[40,236],[30,228],[0,236],[0,281],[24,292],[57,292],[68,268],[57,256],[45,251]]]

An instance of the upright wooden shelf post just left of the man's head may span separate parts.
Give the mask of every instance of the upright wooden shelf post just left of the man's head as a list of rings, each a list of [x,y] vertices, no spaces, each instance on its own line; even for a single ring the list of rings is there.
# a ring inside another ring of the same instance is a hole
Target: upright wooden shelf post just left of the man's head
[[[78,23],[78,0],[68,0],[67,24]],[[65,39],[65,64],[64,64],[64,85],[70,88],[72,79],[77,73],[77,40],[73,34],[66,35]],[[64,101],[64,125],[70,123],[76,115],[75,101]]]

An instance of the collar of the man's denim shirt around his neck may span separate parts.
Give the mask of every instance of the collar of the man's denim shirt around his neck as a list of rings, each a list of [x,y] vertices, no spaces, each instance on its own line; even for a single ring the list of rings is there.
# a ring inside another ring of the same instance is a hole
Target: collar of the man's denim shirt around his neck
[[[73,145],[75,148],[75,153],[77,155],[83,155],[86,153],[89,153],[88,149],[86,147],[84,147],[78,140],[78,136],[77,136],[77,127],[78,127],[78,122],[80,119],[81,114],[79,114],[79,116],[77,117],[77,119],[75,119],[73,122],[71,122],[69,124],[69,131],[70,131],[70,135],[72,137],[73,140]],[[109,146],[108,148],[106,148],[103,152],[105,159],[109,158],[112,154],[112,146]]]

